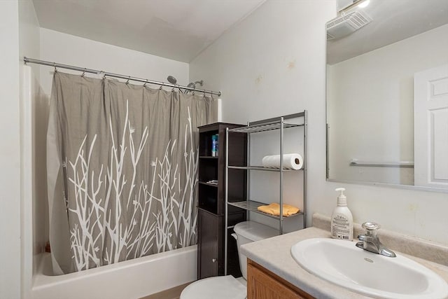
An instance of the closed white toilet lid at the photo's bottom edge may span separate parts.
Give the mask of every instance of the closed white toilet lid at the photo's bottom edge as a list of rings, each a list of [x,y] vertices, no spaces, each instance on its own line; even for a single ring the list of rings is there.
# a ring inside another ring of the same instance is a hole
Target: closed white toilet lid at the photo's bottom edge
[[[180,299],[244,299],[246,286],[232,275],[209,277],[189,284]]]

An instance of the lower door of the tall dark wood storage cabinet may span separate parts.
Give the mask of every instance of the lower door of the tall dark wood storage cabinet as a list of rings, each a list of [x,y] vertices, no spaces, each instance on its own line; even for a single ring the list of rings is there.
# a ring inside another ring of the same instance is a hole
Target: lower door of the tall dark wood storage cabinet
[[[199,239],[197,242],[197,276],[198,279],[212,277],[218,275],[219,263],[219,230],[222,225],[219,225],[219,219],[222,217],[216,216],[199,209],[198,211],[198,232]]]

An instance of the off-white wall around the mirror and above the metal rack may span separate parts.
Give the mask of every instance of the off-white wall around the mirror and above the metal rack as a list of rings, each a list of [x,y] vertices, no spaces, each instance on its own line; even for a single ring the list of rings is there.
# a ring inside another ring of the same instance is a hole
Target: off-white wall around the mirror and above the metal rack
[[[335,0],[268,0],[196,57],[190,78],[205,78],[204,88],[225,92],[226,122],[307,109],[307,223],[314,212],[330,216],[334,190],[344,186],[353,221],[447,245],[446,193],[325,181],[325,23],[335,16]],[[262,181],[251,190],[263,184],[275,188]]]

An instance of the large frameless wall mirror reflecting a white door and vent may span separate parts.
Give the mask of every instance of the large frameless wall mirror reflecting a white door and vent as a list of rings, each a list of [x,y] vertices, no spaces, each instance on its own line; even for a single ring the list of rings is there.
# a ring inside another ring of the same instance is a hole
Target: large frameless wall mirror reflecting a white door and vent
[[[448,193],[448,1],[356,4],[327,24],[327,179]]]

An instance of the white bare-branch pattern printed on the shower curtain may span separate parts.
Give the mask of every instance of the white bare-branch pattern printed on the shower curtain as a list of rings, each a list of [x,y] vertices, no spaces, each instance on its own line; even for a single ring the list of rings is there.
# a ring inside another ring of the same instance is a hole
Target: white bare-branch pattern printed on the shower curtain
[[[108,165],[101,165],[99,170],[90,167],[97,134],[87,152],[85,135],[76,159],[63,165],[74,191],[67,210],[76,222],[71,226],[70,246],[78,271],[195,244],[198,148],[193,147],[189,107],[183,148],[185,165],[180,167],[179,163],[174,163],[177,141],[170,140],[163,157],[156,157],[151,165],[145,165],[152,172],[151,182],[137,181],[149,130],[144,127],[141,138],[134,140],[129,101],[126,102],[121,140],[115,140],[111,118],[109,129]],[[126,156],[132,164],[129,177],[123,172]],[[185,168],[185,173],[180,173],[181,168]],[[182,184],[180,176],[184,176]],[[102,188],[106,188],[105,192],[100,192]]]

